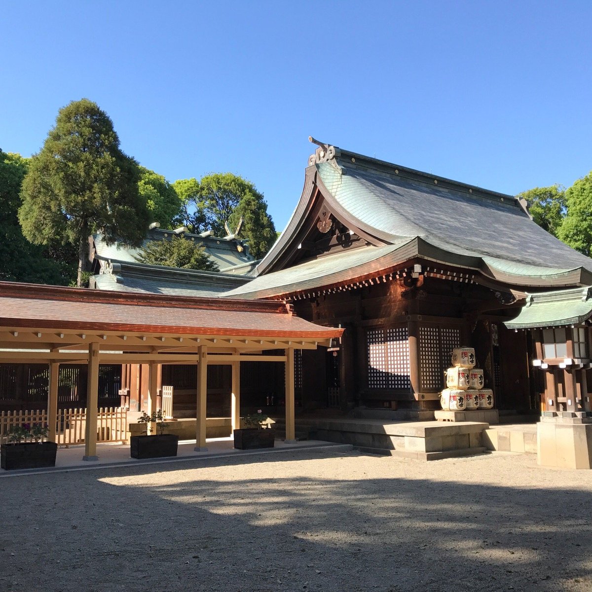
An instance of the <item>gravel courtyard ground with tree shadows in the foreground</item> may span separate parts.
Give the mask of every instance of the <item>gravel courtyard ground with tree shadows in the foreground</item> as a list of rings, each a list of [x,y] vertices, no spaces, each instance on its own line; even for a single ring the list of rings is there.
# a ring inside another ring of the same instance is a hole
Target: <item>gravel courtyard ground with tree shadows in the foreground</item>
[[[0,480],[0,590],[592,590],[592,471],[290,452]]]

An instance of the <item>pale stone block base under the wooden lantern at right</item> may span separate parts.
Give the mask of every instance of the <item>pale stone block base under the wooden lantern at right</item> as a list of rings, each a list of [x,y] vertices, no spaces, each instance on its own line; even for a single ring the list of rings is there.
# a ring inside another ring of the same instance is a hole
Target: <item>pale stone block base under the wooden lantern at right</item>
[[[580,414],[578,414],[580,415]],[[542,466],[592,469],[592,418],[545,416],[536,426],[536,462]]]

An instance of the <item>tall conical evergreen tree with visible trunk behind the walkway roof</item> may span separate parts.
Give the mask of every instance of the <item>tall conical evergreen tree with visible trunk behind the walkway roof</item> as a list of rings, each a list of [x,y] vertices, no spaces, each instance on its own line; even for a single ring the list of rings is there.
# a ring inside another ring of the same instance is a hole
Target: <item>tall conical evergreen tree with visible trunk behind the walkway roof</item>
[[[78,247],[78,285],[89,234],[107,243],[140,244],[149,224],[139,169],[120,149],[108,115],[88,99],[59,111],[22,184],[22,232],[33,243],[56,239]]]

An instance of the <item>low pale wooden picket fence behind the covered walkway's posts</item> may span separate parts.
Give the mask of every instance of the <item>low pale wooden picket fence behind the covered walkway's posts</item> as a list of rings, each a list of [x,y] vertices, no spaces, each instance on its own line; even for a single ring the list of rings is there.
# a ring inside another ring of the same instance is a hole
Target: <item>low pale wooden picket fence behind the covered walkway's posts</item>
[[[1,411],[0,442],[7,442],[13,426],[23,424],[47,424],[47,411]],[[84,442],[86,409],[58,409],[56,443],[60,445]],[[121,442],[126,440],[127,410],[121,407],[99,408],[96,420],[97,442]]]

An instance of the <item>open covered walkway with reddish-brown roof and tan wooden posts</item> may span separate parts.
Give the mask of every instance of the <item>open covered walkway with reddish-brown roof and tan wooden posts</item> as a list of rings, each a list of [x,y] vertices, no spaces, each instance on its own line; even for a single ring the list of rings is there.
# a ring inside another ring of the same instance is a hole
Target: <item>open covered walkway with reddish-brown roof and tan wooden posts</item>
[[[0,363],[49,366],[49,439],[56,441],[60,364],[88,366],[83,459],[96,460],[99,365],[149,369],[146,411],[156,410],[159,367],[191,365],[197,374],[196,449],[205,448],[207,368],[231,366],[231,426],[240,427],[240,365],[285,367],[286,439],[294,440],[294,352],[328,346],[342,329],[298,317],[280,301],[152,294],[0,282]]]

